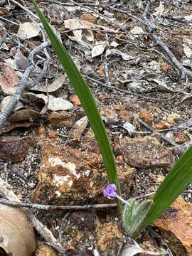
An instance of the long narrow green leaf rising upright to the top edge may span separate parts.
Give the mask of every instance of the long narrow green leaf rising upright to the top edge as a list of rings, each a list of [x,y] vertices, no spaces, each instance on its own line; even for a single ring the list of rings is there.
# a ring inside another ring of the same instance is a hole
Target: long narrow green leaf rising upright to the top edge
[[[50,42],[55,50],[55,53],[58,55],[60,63],[63,65],[63,68],[67,73],[68,78],[70,79],[70,82],[73,85],[73,88],[80,99],[81,105],[85,113],[87,114],[90,126],[92,127],[92,130],[95,134],[95,138],[97,139],[97,143],[100,146],[102,159],[107,170],[107,176],[109,178],[109,181],[110,183],[114,183],[117,186],[117,193],[120,194],[119,180],[117,177],[114,155],[95,99],[92,96],[92,93],[90,92],[90,89],[87,86],[87,83],[85,82],[84,78],[82,78],[80,71],[78,70],[72,58],[70,57],[70,54],[65,49],[63,44],[60,42],[58,37],[55,35],[53,28],[51,28],[45,16],[43,16],[35,0],[33,0],[33,4],[35,6],[39,18],[41,19],[41,22],[43,23],[44,28],[46,29],[46,33],[50,38]],[[120,201],[117,201],[117,204],[119,210],[121,211],[122,203]]]

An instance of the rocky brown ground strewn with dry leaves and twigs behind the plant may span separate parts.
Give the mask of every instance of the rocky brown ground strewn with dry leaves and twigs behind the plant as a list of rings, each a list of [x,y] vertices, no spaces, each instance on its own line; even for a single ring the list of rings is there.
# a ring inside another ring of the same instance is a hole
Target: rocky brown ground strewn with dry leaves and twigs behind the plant
[[[123,198],[150,200],[192,141],[191,1],[42,0],[38,5],[95,95]],[[108,182],[100,149],[50,46],[35,54],[35,66],[26,74],[30,53],[48,42],[31,1],[0,1],[0,26],[0,178],[22,202],[69,206],[31,209],[65,255],[131,255],[122,250],[127,237],[117,208],[102,196]],[[18,104],[3,119],[23,78]],[[192,255],[192,231],[183,238],[192,223],[192,185],[181,196],[175,218],[170,208],[161,223],[142,230],[137,239],[142,248]],[[70,210],[106,203],[107,208]],[[61,255],[38,232],[36,239],[36,255]]]

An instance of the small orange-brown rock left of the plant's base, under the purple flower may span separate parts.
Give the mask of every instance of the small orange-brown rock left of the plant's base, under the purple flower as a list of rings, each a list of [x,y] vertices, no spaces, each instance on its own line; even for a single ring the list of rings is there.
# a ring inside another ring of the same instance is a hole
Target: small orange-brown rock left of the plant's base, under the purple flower
[[[117,222],[100,224],[97,227],[97,248],[104,252],[114,245],[115,240],[122,238]],[[107,254],[109,255],[109,254]]]

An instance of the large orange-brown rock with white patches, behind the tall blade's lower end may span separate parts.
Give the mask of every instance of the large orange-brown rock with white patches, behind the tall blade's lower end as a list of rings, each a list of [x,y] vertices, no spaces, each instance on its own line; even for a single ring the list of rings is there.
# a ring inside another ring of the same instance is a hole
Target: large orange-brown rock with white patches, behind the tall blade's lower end
[[[73,149],[60,144],[58,137],[47,137],[41,142],[41,163],[37,174],[38,186],[31,200],[38,203],[69,204],[106,203],[102,190],[107,186],[100,154]],[[117,172],[125,198],[134,185],[134,168],[122,159],[117,160]]]

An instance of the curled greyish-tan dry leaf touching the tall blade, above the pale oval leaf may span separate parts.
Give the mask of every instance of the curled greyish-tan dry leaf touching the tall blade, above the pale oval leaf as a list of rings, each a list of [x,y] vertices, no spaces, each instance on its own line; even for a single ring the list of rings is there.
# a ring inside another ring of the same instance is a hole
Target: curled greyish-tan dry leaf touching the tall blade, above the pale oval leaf
[[[63,82],[65,82],[65,79],[66,79],[66,75],[60,75],[47,87],[46,85],[36,85],[31,90],[36,90],[39,92],[55,92],[55,90],[58,90],[63,85]]]

